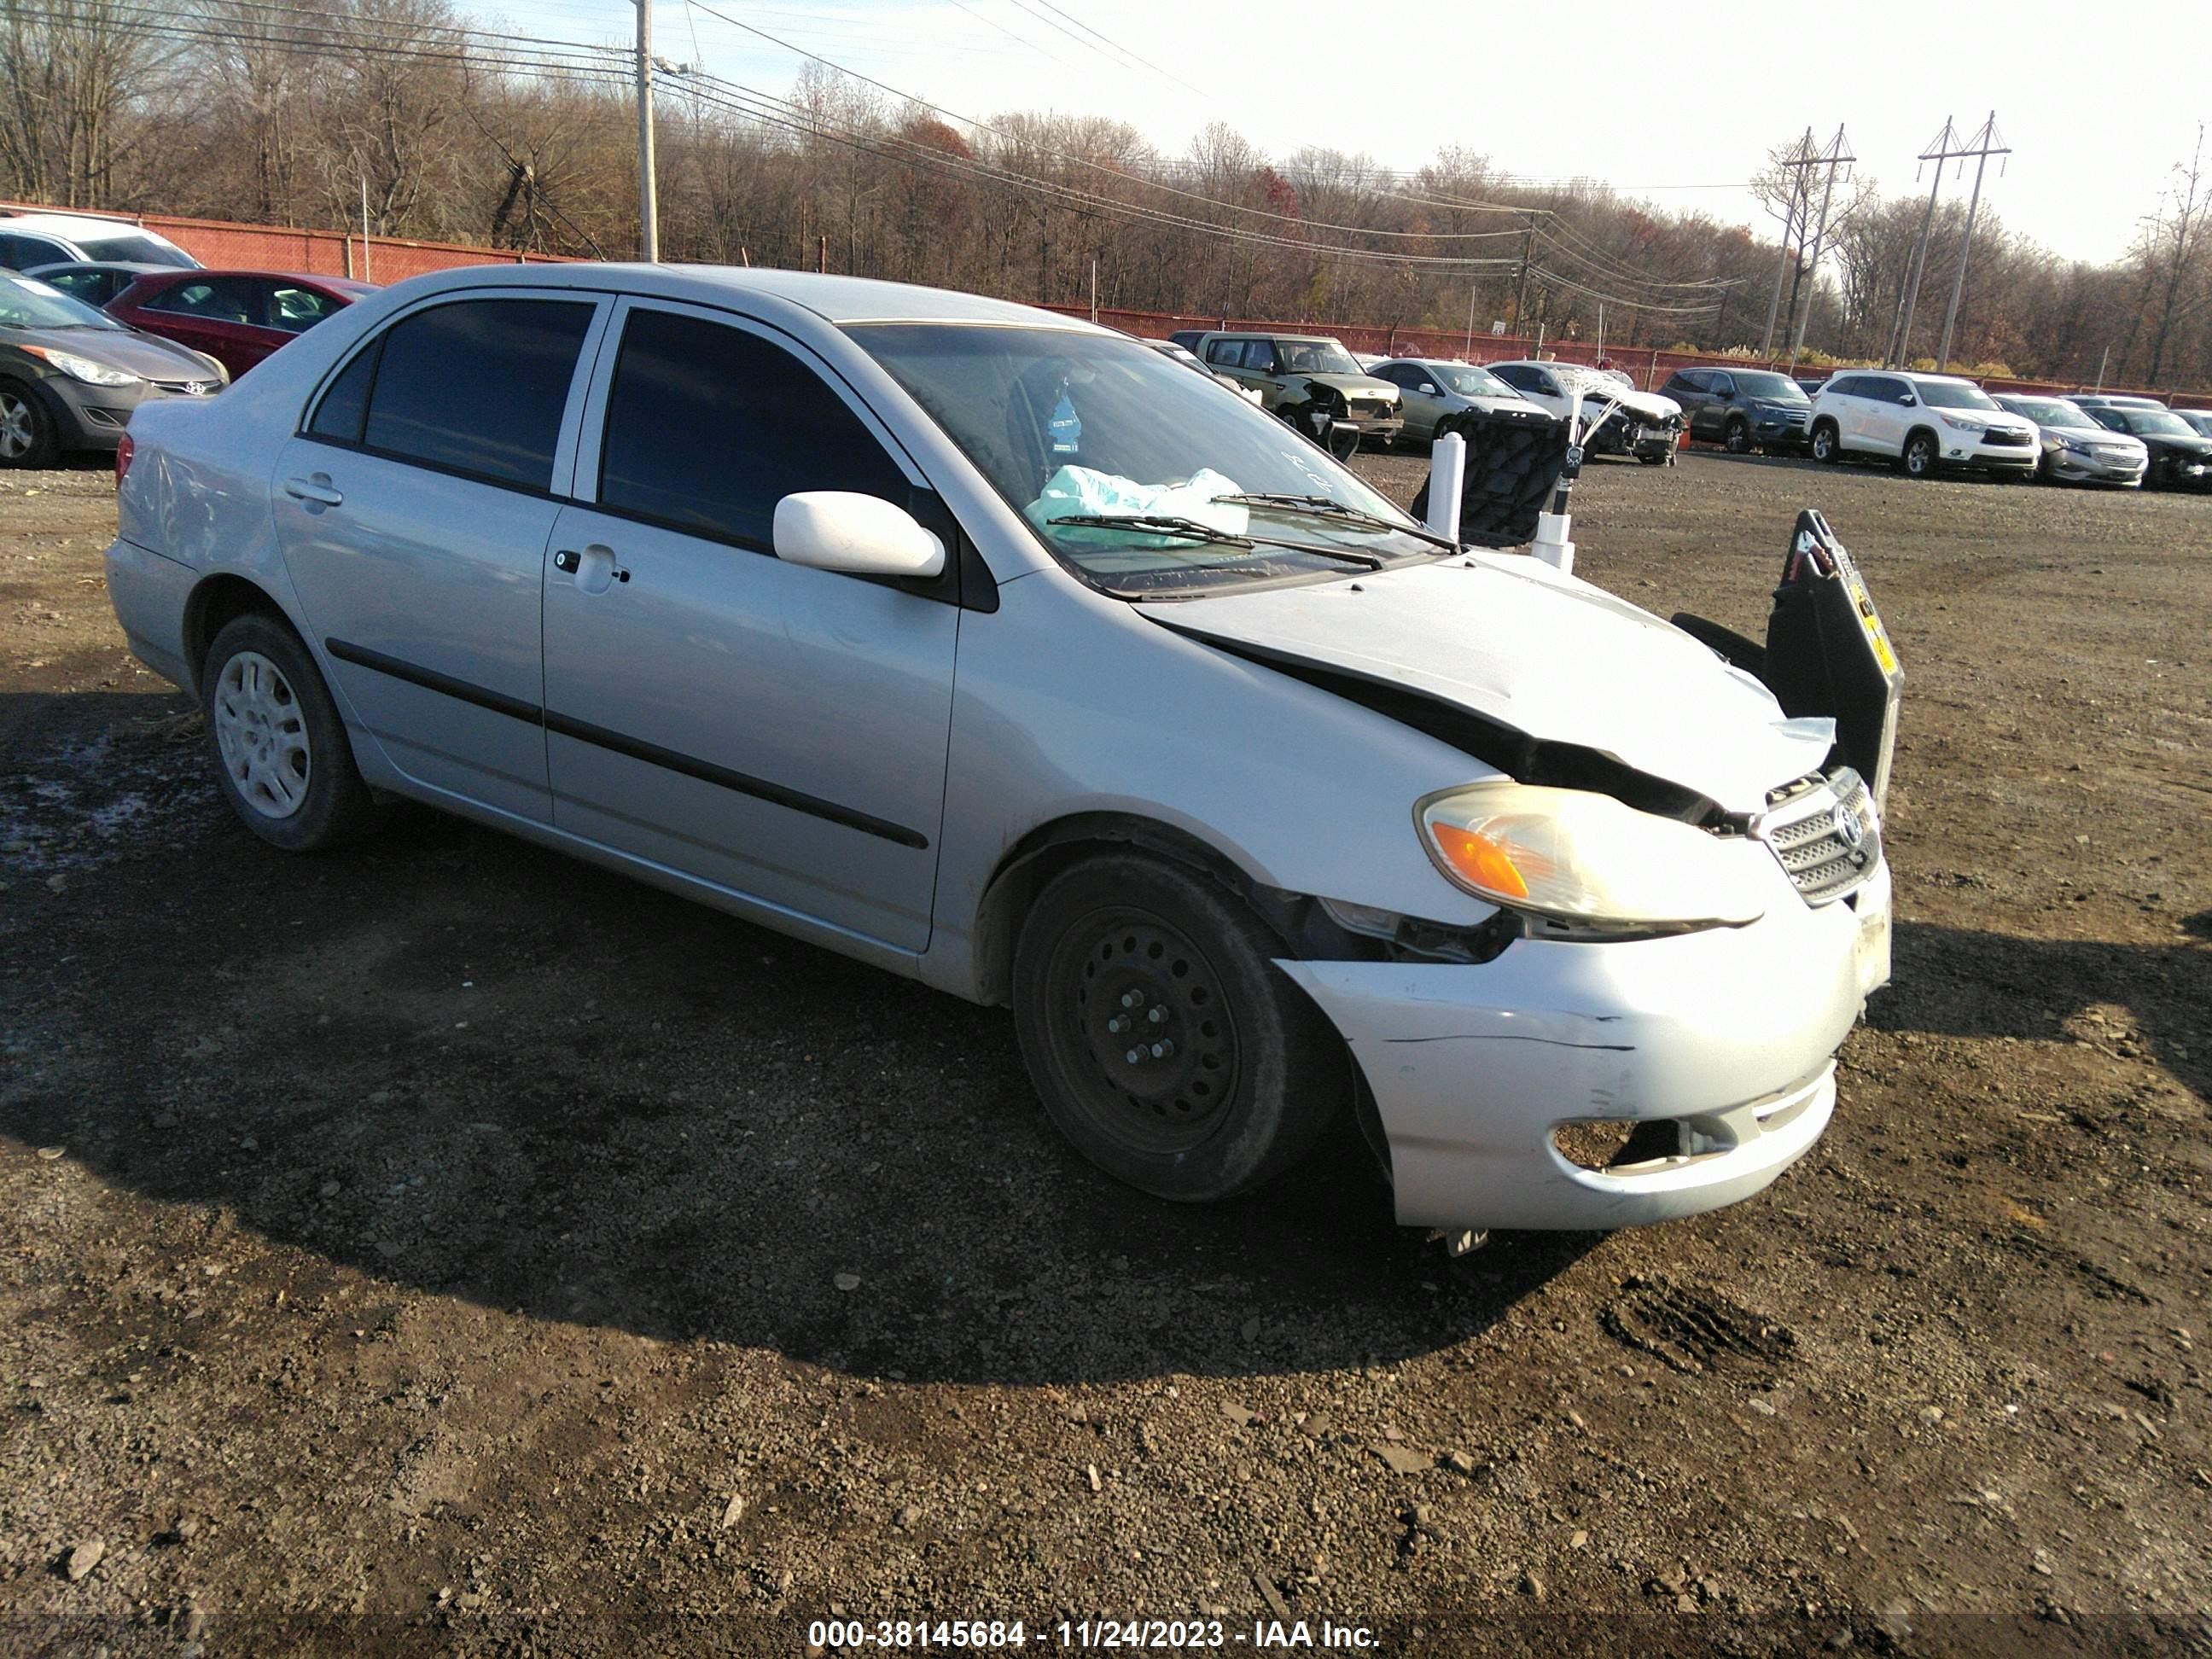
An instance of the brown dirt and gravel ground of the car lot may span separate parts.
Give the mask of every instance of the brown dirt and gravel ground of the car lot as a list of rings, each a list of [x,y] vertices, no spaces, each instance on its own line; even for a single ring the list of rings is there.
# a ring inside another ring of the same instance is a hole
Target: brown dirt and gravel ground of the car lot
[[[1756,633],[1798,504],[1909,670],[1836,1126],[1451,1265],[1349,1139],[1137,1199],[1006,1015],[520,843],[261,847],[106,473],[7,476],[0,1646],[2212,1652],[2212,500],[1601,465],[1579,568]]]

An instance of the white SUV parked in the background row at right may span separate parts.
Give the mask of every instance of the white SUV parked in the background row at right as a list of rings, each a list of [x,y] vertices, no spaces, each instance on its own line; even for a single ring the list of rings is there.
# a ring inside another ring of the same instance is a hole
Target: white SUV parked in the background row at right
[[[2042,445],[2033,420],[2006,414],[1973,380],[1845,372],[1812,400],[1812,456],[1889,456],[1907,478],[1938,467],[2028,478]]]

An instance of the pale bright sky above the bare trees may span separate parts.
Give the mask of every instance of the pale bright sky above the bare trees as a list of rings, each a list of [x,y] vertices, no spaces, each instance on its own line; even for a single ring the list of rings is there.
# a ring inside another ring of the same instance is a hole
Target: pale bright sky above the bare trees
[[[2212,117],[2212,7],[2197,0],[2161,13],[2170,29],[2081,0],[653,0],[655,55],[783,95],[805,60],[708,7],[980,119],[1110,115],[1170,155],[1219,119],[1274,157],[1318,144],[1391,168],[1458,144],[1526,179],[1604,179],[1761,234],[1770,221],[1743,179],[1807,124],[1825,144],[1840,122],[1858,170],[1902,195],[1927,190],[1916,157],[1947,115],[1973,133],[1995,108],[2013,155],[2002,175],[1991,161],[1982,199],[2013,230],[2090,261],[2126,250]],[[633,0],[462,9],[546,40],[604,44],[637,27]],[[1557,42],[1542,40],[1542,18],[1564,24]],[[1973,186],[1966,168],[1944,179],[1947,199]]]

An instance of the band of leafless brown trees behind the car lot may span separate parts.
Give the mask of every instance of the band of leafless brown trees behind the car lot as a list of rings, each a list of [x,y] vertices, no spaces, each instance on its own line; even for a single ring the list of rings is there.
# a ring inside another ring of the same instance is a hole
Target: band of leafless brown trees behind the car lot
[[[380,234],[635,252],[619,42],[462,22],[445,0],[0,0],[0,20],[9,199],[358,226],[365,197]],[[1774,137],[1781,155],[1792,135]],[[938,111],[823,62],[774,93],[697,71],[659,91],[668,259],[823,263],[1060,303],[1088,299],[1095,268],[1115,307],[1504,319],[1579,338],[1604,301],[1608,341],[1714,352],[1759,347],[1781,270],[1785,319],[1814,290],[1814,361],[1889,343],[1924,186],[1887,175],[1900,195],[1865,173],[1838,186],[1814,276],[1805,250],[1781,250],[1781,170],[1761,181],[1772,219],[1747,230],[1601,184],[1526,188],[1471,150],[1407,173],[1321,146],[1267,155],[1217,124],[1164,153],[1121,122]],[[1947,186],[1916,358],[1933,349],[1964,206]],[[1953,361],[2212,385],[2208,206],[2201,142],[2108,265],[2008,232],[1984,199]]]

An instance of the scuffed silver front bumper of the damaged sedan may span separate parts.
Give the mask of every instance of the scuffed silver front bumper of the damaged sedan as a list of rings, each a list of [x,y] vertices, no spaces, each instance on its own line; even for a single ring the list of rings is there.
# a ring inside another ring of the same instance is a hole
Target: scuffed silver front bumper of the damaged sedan
[[[1889,980],[1889,907],[1878,865],[1820,907],[1783,885],[1739,929],[1281,967],[1360,1066],[1400,1223],[1606,1230],[1747,1199],[1820,1139],[1834,1053]],[[1553,1133],[1593,1119],[1674,1121],[1681,1150],[1584,1168]]]

